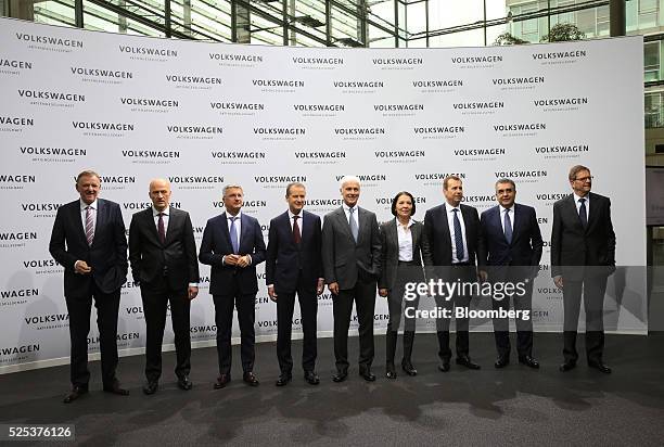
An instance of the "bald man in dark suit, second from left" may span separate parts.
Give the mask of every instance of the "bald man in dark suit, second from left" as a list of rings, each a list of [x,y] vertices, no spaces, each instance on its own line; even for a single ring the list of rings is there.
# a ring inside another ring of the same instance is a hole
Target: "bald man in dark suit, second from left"
[[[148,341],[143,393],[157,391],[162,375],[162,341],[166,308],[176,345],[176,376],[180,389],[191,389],[190,301],[199,293],[199,260],[191,219],[187,212],[169,207],[170,182],[150,182],[152,206],[136,213],[129,225],[129,261],[133,280],[141,286]]]

